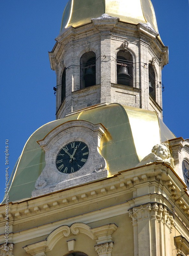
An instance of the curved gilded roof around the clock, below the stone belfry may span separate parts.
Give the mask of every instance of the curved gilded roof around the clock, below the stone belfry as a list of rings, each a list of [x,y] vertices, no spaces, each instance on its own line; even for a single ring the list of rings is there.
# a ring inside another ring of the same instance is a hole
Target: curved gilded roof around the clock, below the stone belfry
[[[18,164],[13,170],[9,190],[10,201],[30,198],[35,182],[45,167],[45,152],[37,141],[70,120],[86,120],[103,124],[111,139],[103,135],[100,154],[105,158],[110,175],[134,168],[160,142],[175,138],[156,112],[113,103],[80,112],[41,126],[28,139]]]

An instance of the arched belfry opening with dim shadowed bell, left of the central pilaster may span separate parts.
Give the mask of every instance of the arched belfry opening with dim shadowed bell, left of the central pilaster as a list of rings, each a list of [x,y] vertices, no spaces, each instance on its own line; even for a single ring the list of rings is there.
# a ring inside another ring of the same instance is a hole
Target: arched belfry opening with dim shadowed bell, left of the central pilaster
[[[80,58],[80,89],[96,84],[96,54],[84,53]]]

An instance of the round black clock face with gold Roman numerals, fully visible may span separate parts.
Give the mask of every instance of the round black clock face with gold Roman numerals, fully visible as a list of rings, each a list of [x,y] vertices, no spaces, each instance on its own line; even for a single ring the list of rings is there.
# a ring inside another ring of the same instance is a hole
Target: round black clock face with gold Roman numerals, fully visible
[[[65,145],[56,157],[59,172],[73,173],[81,169],[89,156],[89,148],[82,141],[73,141]]]

